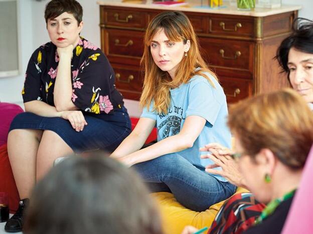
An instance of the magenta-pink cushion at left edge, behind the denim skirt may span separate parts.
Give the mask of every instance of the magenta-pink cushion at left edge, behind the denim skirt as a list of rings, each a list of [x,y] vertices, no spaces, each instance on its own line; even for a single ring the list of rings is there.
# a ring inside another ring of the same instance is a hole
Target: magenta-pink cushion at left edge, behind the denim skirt
[[[23,109],[17,104],[0,102],[0,145],[7,143],[10,124],[21,112]]]

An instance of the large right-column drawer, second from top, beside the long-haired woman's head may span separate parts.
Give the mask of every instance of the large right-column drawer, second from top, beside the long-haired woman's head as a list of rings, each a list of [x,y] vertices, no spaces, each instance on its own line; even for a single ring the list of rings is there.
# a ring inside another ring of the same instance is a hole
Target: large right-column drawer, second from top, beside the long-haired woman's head
[[[208,64],[253,72],[253,42],[209,37],[199,37],[199,41]]]

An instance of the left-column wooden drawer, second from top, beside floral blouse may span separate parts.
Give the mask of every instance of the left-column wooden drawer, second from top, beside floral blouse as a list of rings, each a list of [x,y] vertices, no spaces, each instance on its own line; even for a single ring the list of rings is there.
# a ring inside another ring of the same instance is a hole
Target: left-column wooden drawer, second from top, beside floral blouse
[[[143,54],[144,32],[108,28],[103,32],[105,53],[110,62],[139,64]]]

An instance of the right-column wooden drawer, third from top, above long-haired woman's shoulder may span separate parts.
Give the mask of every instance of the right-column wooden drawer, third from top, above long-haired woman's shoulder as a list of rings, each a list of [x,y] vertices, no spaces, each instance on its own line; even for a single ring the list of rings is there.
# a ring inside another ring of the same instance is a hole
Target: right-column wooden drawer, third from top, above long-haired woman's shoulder
[[[252,95],[252,80],[219,77],[219,81],[224,88],[227,103],[237,102]]]

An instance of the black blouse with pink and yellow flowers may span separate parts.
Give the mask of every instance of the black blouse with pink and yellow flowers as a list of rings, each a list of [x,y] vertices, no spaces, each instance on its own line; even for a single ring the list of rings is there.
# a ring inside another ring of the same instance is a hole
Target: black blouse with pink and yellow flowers
[[[35,50],[25,74],[24,102],[41,100],[54,106],[58,63],[57,47],[52,42]],[[105,115],[123,106],[123,97],[115,88],[115,74],[107,57],[82,37],[73,50],[71,77],[72,101],[80,110],[106,119]]]

